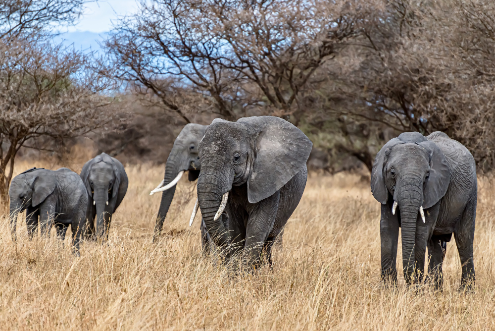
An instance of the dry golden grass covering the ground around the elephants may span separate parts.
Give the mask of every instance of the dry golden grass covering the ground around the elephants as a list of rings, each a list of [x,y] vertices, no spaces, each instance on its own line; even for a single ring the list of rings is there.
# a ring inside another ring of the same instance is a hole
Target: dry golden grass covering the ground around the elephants
[[[129,190],[108,245],[84,243],[80,258],[70,254],[68,242],[28,241],[22,222],[14,246],[1,219],[1,330],[494,328],[495,190],[486,180],[480,183],[476,225],[477,290],[460,294],[453,241],[447,244],[443,292],[410,291],[402,276],[397,289],[381,286],[379,204],[358,176],[313,175],[283,248],[274,250],[273,270],[234,277],[200,253],[199,217],[191,229],[187,225],[194,184],[179,183],[165,234],[152,244],[160,197],[148,193],[163,168],[127,171]]]

